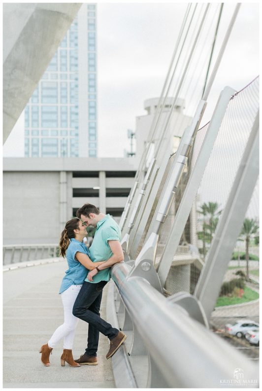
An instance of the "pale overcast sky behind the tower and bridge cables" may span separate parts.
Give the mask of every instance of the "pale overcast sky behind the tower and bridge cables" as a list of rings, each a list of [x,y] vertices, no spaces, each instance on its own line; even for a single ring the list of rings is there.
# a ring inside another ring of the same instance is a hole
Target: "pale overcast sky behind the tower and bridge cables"
[[[215,54],[235,4],[225,3]],[[130,145],[127,130],[135,130],[135,117],[146,114],[144,100],[160,96],[186,8],[187,3],[176,2],[98,1],[99,157],[123,157]],[[247,2],[241,4],[202,124],[224,86],[240,90],[258,74],[259,4]],[[21,156],[23,122],[22,116],[4,145],[4,156]]]

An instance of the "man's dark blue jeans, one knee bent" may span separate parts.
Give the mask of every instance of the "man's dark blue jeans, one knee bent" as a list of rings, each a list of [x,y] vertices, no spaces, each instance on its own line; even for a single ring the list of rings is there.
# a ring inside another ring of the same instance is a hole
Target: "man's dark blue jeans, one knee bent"
[[[106,283],[107,281],[99,283],[84,281],[73,306],[73,315],[89,324],[86,348],[86,355],[89,356],[97,355],[99,332],[112,339],[119,331],[100,318],[102,290]]]

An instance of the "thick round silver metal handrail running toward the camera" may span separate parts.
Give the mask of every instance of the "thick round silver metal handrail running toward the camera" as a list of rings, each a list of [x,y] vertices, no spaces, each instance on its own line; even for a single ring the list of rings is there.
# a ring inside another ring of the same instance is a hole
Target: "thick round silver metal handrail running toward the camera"
[[[193,319],[182,306],[172,303],[170,297],[164,297],[147,280],[129,277],[131,270],[129,264],[121,262],[112,267],[111,275],[155,365],[150,376],[158,379],[158,387],[161,384],[171,388],[225,387],[224,380],[233,379],[236,368],[244,368],[245,378],[254,381],[253,386],[258,385],[255,364]],[[205,376],[200,376],[203,368]],[[147,386],[155,385],[149,381]]]

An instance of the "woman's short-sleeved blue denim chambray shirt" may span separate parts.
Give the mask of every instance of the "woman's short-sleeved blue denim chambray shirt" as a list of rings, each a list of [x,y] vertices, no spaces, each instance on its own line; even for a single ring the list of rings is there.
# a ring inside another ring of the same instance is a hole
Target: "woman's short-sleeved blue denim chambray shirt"
[[[90,252],[83,242],[76,239],[70,239],[70,244],[66,250],[66,260],[69,269],[66,270],[66,276],[62,280],[59,293],[63,293],[70,285],[83,284],[88,270],[79,261],[75,259],[75,254],[82,252],[90,257]]]

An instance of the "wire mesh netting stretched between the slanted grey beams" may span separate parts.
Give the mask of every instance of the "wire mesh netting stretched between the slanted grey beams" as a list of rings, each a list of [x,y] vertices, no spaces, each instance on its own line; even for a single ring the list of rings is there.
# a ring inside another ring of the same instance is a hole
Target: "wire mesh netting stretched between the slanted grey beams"
[[[194,294],[205,259],[212,245],[216,227],[227,203],[237,169],[251,133],[259,109],[259,78],[235,94],[228,105],[217,139],[190,216],[184,228],[178,248],[164,284],[165,295],[179,291]],[[155,267],[161,262],[164,246],[174,222],[175,214],[183,197],[185,187],[196,162],[209,124],[199,129],[190,153],[178,191],[160,232]],[[234,246],[232,259],[212,313],[211,324],[223,335],[230,335],[228,328],[236,328],[237,321],[244,318],[256,327],[259,321],[259,185],[257,184],[243,222],[239,240]],[[227,326],[227,324],[229,324]],[[247,328],[248,328],[247,327]],[[230,331],[230,330],[229,330]],[[231,332],[231,331],[230,331]],[[234,331],[232,331],[233,333]],[[243,337],[238,333],[238,337]],[[234,334],[235,335],[235,334]],[[235,338],[233,336],[233,338]],[[246,349],[249,342],[241,339]],[[250,345],[249,345],[250,347]],[[253,352],[254,353],[254,352]],[[257,357],[257,353],[254,353]]]

